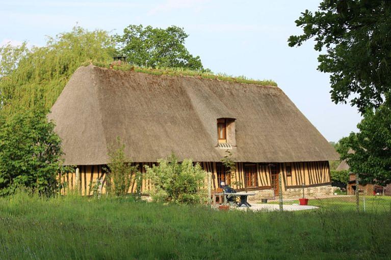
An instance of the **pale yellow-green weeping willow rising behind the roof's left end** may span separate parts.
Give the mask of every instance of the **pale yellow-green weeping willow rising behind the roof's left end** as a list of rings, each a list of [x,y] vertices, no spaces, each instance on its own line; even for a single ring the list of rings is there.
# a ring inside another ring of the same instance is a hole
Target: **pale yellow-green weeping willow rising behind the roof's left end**
[[[79,26],[49,37],[44,47],[29,49],[26,42],[0,47],[0,110],[12,114],[41,101],[49,109],[83,62],[108,62],[114,53],[115,43],[106,31]]]

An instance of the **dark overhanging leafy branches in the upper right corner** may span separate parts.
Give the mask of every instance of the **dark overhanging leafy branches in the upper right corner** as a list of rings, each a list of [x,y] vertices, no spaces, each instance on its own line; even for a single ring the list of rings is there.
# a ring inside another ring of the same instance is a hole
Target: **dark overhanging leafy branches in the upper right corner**
[[[330,73],[331,99],[356,105],[361,113],[390,98],[391,2],[324,0],[319,10],[301,13],[303,34],[289,46],[314,38],[318,70]]]

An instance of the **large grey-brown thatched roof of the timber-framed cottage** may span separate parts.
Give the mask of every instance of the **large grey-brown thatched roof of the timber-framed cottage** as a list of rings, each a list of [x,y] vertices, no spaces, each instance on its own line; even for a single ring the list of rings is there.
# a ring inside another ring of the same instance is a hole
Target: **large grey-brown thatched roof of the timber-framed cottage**
[[[236,119],[236,161],[338,159],[327,140],[275,86],[102,69],[75,71],[49,115],[63,140],[65,164],[108,163],[117,136],[135,162],[174,152],[220,161],[217,119]]]

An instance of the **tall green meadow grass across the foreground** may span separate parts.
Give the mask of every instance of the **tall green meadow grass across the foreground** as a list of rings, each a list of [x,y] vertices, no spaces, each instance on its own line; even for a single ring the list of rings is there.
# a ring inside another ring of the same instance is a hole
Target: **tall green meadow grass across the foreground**
[[[0,259],[389,259],[391,214],[0,198]]]

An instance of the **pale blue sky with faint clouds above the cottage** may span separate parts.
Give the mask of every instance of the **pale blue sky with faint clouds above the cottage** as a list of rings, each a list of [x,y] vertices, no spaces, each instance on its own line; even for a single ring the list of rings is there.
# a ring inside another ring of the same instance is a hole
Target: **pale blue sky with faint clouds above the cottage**
[[[320,0],[18,1],[0,0],[0,45],[42,46],[47,36],[80,25],[121,34],[129,24],[184,27],[186,47],[205,68],[233,76],[273,79],[329,141],[357,131],[360,115],[334,104],[329,75],[317,71],[314,42],[289,47],[300,34],[295,20]]]

